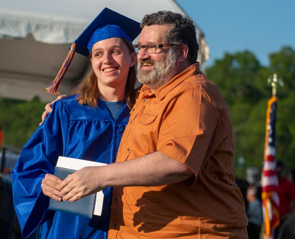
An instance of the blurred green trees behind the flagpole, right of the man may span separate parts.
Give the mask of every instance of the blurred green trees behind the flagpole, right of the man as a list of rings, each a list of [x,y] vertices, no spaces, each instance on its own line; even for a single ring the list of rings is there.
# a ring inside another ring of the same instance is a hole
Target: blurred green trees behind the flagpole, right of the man
[[[283,47],[270,54],[269,67],[263,67],[253,53],[226,53],[207,69],[208,77],[217,84],[230,109],[235,143],[234,162],[246,159],[245,167],[261,167],[265,143],[265,118],[271,87],[266,79],[276,72],[284,87],[277,88],[277,159],[295,168],[295,52]],[[243,177],[245,170],[238,170]]]

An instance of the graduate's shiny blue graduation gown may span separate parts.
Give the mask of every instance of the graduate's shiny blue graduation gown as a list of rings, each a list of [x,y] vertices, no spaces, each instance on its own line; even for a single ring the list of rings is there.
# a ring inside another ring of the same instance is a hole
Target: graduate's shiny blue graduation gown
[[[116,120],[103,102],[79,105],[76,96],[53,104],[53,112],[26,143],[11,172],[13,202],[23,237],[43,224],[42,238],[107,238],[112,188],[106,188],[101,216],[85,218],[48,209],[41,190],[46,173],[53,174],[58,156],[115,162],[129,120],[125,105]]]

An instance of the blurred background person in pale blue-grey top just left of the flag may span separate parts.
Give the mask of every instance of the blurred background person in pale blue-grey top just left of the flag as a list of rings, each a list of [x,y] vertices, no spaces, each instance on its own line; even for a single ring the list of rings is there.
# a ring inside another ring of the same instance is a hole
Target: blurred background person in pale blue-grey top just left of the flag
[[[261,201],[256,197],[257,188],[255,186],[248,187],[247,200],[248,210],[246,211],[248,217],[247,233],[251,239],[259,239],[261,225],[263,222]]]

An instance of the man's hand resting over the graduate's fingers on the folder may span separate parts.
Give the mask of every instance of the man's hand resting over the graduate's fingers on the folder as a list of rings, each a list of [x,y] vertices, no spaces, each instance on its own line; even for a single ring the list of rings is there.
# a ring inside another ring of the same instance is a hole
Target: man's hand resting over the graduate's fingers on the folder
[[[85,167],[69,174],[60,184],[59,195],[63,196],[62,200],[74,202],[104,189],[102,167]]]

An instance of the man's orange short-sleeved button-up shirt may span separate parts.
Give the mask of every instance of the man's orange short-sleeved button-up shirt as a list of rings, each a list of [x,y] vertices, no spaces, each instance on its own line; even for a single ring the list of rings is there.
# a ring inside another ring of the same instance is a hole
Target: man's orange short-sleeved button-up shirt
[[[130,114],[116,162],[160,151],[195,177],[114,187],[108,238],[248,238],[228,107],[199,63],[154,92],[143,86]]]

